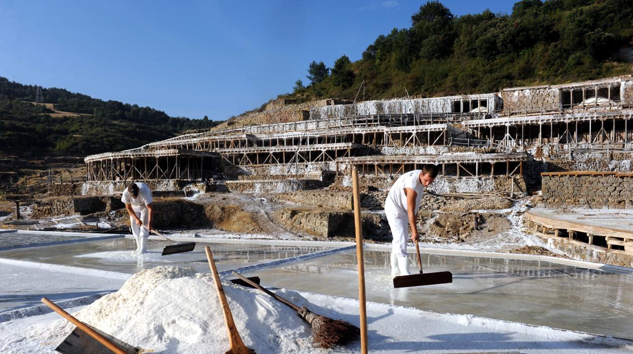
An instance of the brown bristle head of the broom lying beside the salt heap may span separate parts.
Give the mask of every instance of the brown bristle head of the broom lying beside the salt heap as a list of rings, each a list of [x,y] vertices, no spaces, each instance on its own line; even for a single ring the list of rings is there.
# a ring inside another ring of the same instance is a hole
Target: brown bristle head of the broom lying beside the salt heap
[[[306,307],[302,307],[298,313],[311,325],[312,339],[318,346],[332,348],[360,338],[360,328],[349,322],[317,315]]]

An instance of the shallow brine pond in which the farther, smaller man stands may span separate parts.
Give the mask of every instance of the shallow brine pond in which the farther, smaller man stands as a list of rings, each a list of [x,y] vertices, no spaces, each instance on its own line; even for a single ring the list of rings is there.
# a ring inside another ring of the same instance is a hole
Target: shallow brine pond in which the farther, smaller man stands
[[[0,258],[9,258],[27,262],[53,263],[89,269],[108,270],[134,274],[142,269],[158,265],[191,267],[196,272],[209,272],[209,264],[204,254],[204,246],[210,246],[218,270],[235,269],[281,258],[305,255],[334,246],[298,246],[262,243],[225,243],[201,239],[196,242],[193,251],[161,256],[167,241],[149,240],[145,255],[133,256],[136,242],[132,238],[117,238],[82,243],[67,243],[46,248],[23,248],[0,252]]]

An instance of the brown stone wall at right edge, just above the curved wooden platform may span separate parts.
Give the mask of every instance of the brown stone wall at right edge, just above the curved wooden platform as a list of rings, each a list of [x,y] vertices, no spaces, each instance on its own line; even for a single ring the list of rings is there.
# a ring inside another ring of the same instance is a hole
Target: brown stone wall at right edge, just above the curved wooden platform
[[[543,175],[539,207],[631,208],[633,177],[627,175]]]

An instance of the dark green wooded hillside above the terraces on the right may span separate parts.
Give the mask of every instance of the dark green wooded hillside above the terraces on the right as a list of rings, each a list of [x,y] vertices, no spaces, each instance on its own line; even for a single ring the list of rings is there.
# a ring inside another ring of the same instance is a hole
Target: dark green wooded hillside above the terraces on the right
[[[295,82],[280,96],[353,99],[365,80],[365,98],[445,96],[496,92],[504,87],[558,84],[631,73],[630,0],[522,0],[512,13],[454,16],[429,1],[411,27],[379,35],[351,62],[328,68],[313,61],[310,84]]]

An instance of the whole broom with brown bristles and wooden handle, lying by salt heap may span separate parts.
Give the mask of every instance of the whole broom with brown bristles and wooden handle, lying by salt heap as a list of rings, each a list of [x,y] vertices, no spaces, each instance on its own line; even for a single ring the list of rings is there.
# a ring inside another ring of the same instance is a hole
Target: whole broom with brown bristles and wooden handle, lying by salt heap
[[[250,281],[248,278],[242,276],[241,274],[235,271],[233,271],[232,274],[239,279],[242,279],[242,281],[246,282],[247,284],[253,286],[253,288],[260,289],[276,300],[281,301],[288,307],[291,307],[292,310],[295,310],[299,314],[299,317],[310,324],[312,330],[312,339],[318,346],[321,346],[323,348],[332,348],[333,346],[337,345],[345,345],[346,343],[355,341],[360,337],[360,329],[349,322],[346,322],[344,320],[330,319],[329,317],[311,312],[306,307],[299,308],[297,305],[294,305],[294,303],[285,300],[281,296],[273,293],[263,286],[260,286],[260,284],[256,284],[255,282]]]

